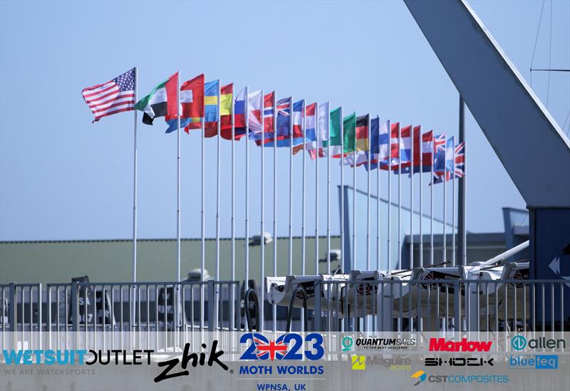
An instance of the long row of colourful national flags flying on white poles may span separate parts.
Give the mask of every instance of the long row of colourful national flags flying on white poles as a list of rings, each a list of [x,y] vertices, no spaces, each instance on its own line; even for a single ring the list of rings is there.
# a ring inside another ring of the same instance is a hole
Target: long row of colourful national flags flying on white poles
[[[306,150],[311,159],[330,153],[333,158],[344,157],[345,165],[363,165],[366,170],[433,171],[433,184],[465,176],[465,143],[455,145],[454,137],[446,140],[445,134],[422,133],[421,126],[400,127],[390,120],[380,123],[378,116],[369,114],[343,116],[342,108],[331,110],[328,103],[306,105],[305,100],[294,102],[291,97],[276,100],[274,92],[244,88],[234,98],[233,83],[205,82],[204,74],[182,83],[178,91],[178,78],[179,73],[171,75],[136,104],[135,68],[108,83],[84,88],[82,95],[95,115],[93,122],[140,110],[147,125],[164,117],[169,133],[177,130],[180,109],[180,127],[185,132],[202,129],[203,121],[205,137],[218,135],[219,120],[219,136],[232,140],[233,117],[234,140],[249,130],[249,139],[258,146],[291,147],[294,154]]]

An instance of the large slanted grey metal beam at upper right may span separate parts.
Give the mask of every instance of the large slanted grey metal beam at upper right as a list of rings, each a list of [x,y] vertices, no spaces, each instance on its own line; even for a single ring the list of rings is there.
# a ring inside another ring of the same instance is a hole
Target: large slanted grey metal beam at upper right
[[[529,207],[570,207],[570,141],[467,2],[405,4]]]

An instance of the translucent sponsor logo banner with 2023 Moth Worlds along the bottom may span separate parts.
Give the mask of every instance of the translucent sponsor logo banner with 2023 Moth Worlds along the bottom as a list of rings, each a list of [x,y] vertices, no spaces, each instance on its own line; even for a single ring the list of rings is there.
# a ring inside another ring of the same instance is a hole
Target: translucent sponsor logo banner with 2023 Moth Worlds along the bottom
[[[569,390],[569,336],[4,333],[0,390]]]

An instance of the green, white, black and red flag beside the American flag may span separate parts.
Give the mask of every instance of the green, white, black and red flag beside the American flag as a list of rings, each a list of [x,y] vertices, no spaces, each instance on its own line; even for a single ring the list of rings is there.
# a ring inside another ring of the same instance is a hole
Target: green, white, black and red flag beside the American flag
[[[166,120],[176,117],[178,100],[177,85],[178,73],[175,73],[157,85],[145,98],[138,101],[135,108],[144,112],[142,115],[142,123],[152,125],[152,120],[157,117],[166,117]]]

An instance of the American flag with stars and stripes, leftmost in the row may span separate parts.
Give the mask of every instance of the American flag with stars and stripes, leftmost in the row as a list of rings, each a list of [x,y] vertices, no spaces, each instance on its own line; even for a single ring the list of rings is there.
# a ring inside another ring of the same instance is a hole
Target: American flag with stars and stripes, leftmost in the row
[[[83,88],[81,95],[89,106],[95,120],[107,115],[135,110],[135,68],[123,73],[107,83]]]

